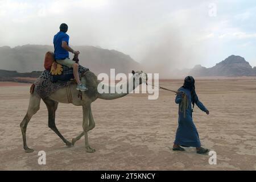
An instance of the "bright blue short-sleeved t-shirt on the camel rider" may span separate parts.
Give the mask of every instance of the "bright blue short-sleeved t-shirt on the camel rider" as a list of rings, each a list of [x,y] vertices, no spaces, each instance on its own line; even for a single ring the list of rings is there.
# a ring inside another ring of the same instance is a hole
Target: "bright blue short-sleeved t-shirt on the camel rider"
[[[68,51],[61,47],[61,43],[63,41],[68,44],[69,36],[68,34],[60,31],[53,38],[55,59],[66,59],[69,57]]]

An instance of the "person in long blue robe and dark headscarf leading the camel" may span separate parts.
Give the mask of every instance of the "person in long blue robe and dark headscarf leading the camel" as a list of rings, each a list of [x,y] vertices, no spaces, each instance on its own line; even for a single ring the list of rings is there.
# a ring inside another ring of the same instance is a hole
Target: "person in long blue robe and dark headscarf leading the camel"
[[[199,101],[195,90],[195,80],[192,76],[185,77],[184,85],[178,89],[183,93],[178,93],[175,99],[176,104],[179,104],[179,126],[176,131],[176,138],[172,150],[184,151],[180,147],[196,147],[197,154],[207,154],[208,149],[201,147],[199,134],[197,133],[196,126],[193,123],[191,104],[196,104],[202,111],[209,114],[209,110]],[[188,107],[185,108],[185,114],[181,111],[181,102],[184,99],[184,94],[187,96]]]

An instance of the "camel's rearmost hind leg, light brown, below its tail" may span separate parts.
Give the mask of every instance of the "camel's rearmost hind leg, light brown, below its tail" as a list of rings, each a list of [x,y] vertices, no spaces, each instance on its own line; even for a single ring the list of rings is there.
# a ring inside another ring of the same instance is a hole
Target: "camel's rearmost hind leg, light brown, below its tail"
[[[24,117],[23,121],[20,123],[20,129],[22,131],[22,138],[23,138],[23,148],[26,152],[33,152],[31,148],[28,148],[27,141],[26,141],[26,130],[27,124],[30,122],[32,115],[34,115],[40,108],[40,96],[36,94],[36,92],[30,95],[30,103],[28,105],[27,114]]]

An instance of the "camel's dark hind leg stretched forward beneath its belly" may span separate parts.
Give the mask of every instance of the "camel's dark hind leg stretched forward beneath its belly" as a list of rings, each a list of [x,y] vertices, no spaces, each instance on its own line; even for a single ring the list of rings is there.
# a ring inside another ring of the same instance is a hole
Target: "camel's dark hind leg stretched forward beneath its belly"
[[[68,140],[65,139],[63,137],[63,135],[61,135],[60,131],[57,129],[57,127],[55,125],[55,113],[56,113],[59,102],[49,100],[49,99],[44,99],[43,101],[46,104],[47,109],[48,109],[48,126],[49,126],[49,128],[52,129],[52,131],[54,131],[63,140],[63,142],[67,146],[72,146],[72,143],[68,142]]]

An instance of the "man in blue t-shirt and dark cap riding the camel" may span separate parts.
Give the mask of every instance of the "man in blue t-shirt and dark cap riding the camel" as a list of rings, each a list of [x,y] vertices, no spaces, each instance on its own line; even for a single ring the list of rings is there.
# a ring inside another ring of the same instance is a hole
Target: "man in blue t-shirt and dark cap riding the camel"
[[[80,52],[74,51],[71,47],[69,47],[69,35],[67,34],[67,31],[68,25],[62,23],[60,25],[60,31],[53,38],[55,60],[61,65],[73,68],[73,75],[77,82],[76,89],[86,91],[88,88],[81,83],[79,78],[79,64],[69,59],[69,52],[72,52],[75,55],[79,55]]]

